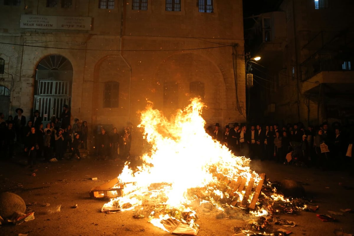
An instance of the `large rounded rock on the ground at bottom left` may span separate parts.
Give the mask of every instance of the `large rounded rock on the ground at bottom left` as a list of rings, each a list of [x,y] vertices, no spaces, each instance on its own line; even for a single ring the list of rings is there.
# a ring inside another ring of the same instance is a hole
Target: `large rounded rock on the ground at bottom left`
[[[11,218],[15,212],[26,211],[26,204],[23,199],[12,192],[0,193],[0,215],[3,219]]]

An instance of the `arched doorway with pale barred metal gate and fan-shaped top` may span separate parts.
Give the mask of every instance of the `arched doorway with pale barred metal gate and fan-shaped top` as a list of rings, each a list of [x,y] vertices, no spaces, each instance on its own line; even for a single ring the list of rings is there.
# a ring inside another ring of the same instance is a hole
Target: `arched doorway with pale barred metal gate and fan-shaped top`
[[[59,117],[62,107],[71,103],[73,67],[61,55],[50,55],[39,62],[36,70],[34,110],[39,110],[43,121]]]

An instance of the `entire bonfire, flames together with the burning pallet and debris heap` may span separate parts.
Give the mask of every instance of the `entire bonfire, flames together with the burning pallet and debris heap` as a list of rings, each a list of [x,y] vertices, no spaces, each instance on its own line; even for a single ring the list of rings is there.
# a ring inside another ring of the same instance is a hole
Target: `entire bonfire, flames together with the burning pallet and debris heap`
[[[222,211],[230,206],[256,208],[264,174],[252,171],[249,159],[234,156],[205,132],[203,107],[192,99],[169,121],[151,103],[147,106],[138,127],[144,129],[151,151],[135,171],[126,163],[113,187],[121,189],[121,196],[104,204],[103,212],[134,210],[136,218],[148,216],[163,230],[196,235],[195,208],[201,203]]]

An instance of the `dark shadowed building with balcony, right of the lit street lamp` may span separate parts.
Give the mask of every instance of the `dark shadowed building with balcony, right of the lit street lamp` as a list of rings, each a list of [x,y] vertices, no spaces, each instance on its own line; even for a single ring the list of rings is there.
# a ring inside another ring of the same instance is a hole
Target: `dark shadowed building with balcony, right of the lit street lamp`
[[[268,88],[267,121],[353,123],[353,6],[348,0],[284,0],[278,11],[257,16],[251,34],[264,66],[258,76]]]

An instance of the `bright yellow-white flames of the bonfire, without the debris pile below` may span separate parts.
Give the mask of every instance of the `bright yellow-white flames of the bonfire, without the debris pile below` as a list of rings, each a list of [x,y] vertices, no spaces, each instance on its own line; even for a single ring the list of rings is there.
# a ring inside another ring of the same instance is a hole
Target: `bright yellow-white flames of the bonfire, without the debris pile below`
[[[166,119],[159,110],[153,109],[149,103],[141,113],[141,123],[144,138],[151,145],[151,150],[141,159],[143,165],[138,171],[133,171],[126,165],[118,176],[125,183],[124,196],[112,199],[107,205],[123,206],[126,209],[142,205],[145,196],[153,199],[160,191],[151,191],[154,183],[164,183],[162,188],[166,208],[180,209],[192,212],[187,206],[192,198],[188,197],[188,189],[200,188],[213,196],[223,198],[225,192],[212,188],[218,182],[220,173],[230,180],[240,175],[259,181],[258,174],[251,171],[250,160],[234,156],[227,147],[213,140],[204,129],[205,121],[201,117],[205,105],[200,99],[194,98],[184,110],[178,110],[170,120]],[[127,184],[130,183],[130,184]],[[247,184],[246,183],[246,184]],[[236,192],[241,198],[243,192]],[[228,197],[228,196],[226,196]],[[152,212],[154,215],[154,212]],[[150,221],[155,225],[161,223],[165,215],[154,216]],[[192,222],[193,223],[193,222]],[[163,227],[161,227],[163,228]]]

